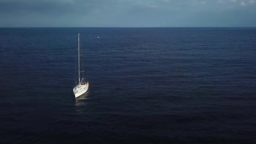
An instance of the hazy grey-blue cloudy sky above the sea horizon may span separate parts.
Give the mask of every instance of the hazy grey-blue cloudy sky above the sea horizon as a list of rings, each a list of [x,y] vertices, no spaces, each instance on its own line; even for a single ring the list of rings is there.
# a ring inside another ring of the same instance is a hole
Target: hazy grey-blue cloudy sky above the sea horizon
[[[0,0],[0,27],[256,27],[256,0]]]

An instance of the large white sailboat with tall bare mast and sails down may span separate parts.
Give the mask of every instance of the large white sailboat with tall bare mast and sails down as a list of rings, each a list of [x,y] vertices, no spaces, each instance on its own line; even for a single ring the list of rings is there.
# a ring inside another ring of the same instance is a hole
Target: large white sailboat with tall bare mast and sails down
[[[73,89],[73,92],[74,92],[74,95],[75,95],[75,98],[83,95],[87,90],[88,90],[88,87],[89,87],[89,82],[85,83],[83,82],[83,78],[82,80],[80,81],[80,42],[79,42],[79,36],[80,36],[80,33],[78,34],[78,83],[76,84],[75,88]]]

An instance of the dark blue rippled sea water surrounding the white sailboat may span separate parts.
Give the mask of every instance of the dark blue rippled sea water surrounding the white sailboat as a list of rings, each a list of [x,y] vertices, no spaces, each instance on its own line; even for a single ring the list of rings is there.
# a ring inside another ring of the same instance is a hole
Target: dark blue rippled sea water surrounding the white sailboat
[[[256,28],[0,28],[0,91],[1,143],[256,143]]]

